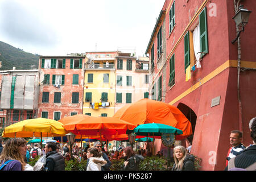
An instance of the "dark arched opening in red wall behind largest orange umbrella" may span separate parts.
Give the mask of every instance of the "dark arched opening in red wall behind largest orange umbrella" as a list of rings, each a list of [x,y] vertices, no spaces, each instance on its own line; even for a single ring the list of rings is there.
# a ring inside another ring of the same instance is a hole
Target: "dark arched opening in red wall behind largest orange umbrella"
[[[179,103],[179,105],[177,105],[177,108],[191,122],[193,134],[191,136],[189,136],[187,139],[188,139],[189,142],[193,143],[193,135],[194,135],[194,132],[195,132],[196,118],[197,118],[196,113],[189,106],[187,106],[183,103]]]

